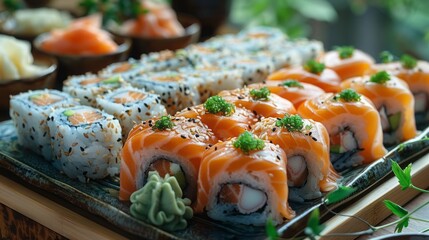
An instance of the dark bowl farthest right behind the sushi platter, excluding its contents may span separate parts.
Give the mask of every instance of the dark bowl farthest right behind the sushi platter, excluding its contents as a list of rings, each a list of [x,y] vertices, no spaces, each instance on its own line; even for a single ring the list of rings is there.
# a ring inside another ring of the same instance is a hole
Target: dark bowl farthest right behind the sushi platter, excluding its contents
[[[147,38],[125,35],[114,29],[110,29],[110,32],[115,36],[131,39],[130,56],[133,58],[140,58],[140,55],[143,53],[176,50],[198,42],[201,32],[199,21],[194,17],[183,14],[178,15],[178,20],[185,28],[185,34],[179,37]]]

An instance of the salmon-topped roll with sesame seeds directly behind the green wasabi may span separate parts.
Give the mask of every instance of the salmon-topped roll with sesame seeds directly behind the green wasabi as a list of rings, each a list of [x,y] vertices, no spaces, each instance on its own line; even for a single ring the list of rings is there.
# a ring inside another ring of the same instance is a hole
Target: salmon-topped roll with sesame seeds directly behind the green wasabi
[[[163,116],[136,125],[121,156],[121,200],[142,188],[150,171],[175,176],[184,197],[195,200],[197,178],[204,151],[217,142],[199,119]]]

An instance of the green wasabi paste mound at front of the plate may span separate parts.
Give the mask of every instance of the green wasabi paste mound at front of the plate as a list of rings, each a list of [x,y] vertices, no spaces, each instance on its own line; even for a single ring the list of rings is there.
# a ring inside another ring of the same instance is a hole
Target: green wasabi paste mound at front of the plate
[[[182,230],[193,216],[191,200],[182,198],[182,189],[175,177],[160,177],[149,172],[143,188],[131,194],[131,215],[167,231]]]

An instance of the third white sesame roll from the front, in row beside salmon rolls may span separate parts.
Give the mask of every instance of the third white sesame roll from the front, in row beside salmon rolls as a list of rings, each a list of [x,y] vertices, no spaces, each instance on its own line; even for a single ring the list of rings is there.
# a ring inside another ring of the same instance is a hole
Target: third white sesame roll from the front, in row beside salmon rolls
[[[200,80],[195,77],[176,71],[143,74],[130,81],[133,87],[160,95],[161,102],[170,115],[200,103],[198,82]]]

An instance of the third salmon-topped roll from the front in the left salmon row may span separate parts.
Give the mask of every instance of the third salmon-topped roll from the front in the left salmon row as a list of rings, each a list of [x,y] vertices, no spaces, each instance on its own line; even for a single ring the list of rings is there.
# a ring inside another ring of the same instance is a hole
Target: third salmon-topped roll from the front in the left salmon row
[[[246,108],[255,115],[262,117],[283,117],[285,114],[296,113],[293,104],[276,94],[272,94],[267,87],[242,88],[222,91],[218,94],[236,107]]]

